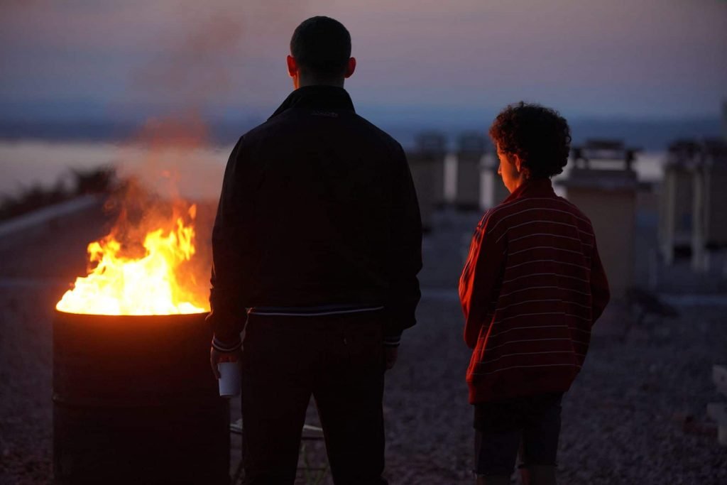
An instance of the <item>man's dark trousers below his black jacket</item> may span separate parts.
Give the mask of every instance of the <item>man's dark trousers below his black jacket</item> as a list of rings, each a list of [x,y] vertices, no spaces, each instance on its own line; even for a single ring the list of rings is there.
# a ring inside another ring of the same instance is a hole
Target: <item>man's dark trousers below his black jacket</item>
[[[245,484],[292,484],[316,399],[336,485],[387,484],[380,312],[251,315],[242,357]]]

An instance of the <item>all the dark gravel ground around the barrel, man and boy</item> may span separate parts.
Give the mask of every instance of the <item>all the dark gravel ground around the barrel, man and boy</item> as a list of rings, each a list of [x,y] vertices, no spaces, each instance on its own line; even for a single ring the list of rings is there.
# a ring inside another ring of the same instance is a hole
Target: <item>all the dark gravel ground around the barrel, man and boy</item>
[[[469,352],[454,288],[476,219],[440,214],[425,240],[419,324],[404,334],[387,374],[392,484],[473,483]],[[84,248],[102,223],[50,228],[35,241],[0,247],[0,484],[52,481],[52,308],[82,272]],[[608,308],[563,401],[561,484],[727,483],[727,448],[705,412],[708,402],[727,399],[711,381],[712,364],[727,362],[723,302],[727,295],[680,305],[680,317],[647,320],[623,340],[630,316],[618,304]],[[308,444],[307,455],[325,463],[320,444]],[[301,472],[299,483],[315,481]]]

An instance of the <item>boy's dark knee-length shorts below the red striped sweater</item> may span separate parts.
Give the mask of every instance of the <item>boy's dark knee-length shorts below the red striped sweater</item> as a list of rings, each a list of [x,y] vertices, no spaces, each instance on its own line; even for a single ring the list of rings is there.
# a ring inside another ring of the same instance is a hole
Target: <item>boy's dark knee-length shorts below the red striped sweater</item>
[[[563,393],[475,404],[475,473],[510,475],[522,444],[525,466],[556,465]]]

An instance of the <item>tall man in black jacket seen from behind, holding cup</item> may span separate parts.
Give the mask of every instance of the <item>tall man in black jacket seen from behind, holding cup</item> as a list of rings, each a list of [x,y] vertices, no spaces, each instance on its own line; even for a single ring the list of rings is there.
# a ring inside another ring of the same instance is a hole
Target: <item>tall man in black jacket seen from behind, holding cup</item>
[[[246,484],[292,484],[310,396],[336,484],[385,484],[384,371],[414,325],[417,196],[393,138],[358,116],[350,35],[329,17],[294,31],[294,92],[243,135],[212,233],[210,350],[240,353]]]

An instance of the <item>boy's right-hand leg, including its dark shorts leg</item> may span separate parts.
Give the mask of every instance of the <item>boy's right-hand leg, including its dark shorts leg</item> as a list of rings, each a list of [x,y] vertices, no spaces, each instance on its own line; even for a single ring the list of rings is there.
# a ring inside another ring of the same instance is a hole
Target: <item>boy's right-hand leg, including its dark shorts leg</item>
[[[523,483],[555,485],[562,393],[536,396],[523,430]]]

